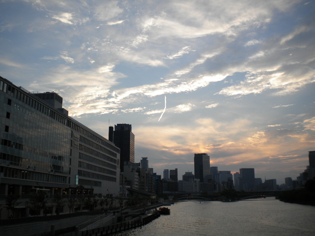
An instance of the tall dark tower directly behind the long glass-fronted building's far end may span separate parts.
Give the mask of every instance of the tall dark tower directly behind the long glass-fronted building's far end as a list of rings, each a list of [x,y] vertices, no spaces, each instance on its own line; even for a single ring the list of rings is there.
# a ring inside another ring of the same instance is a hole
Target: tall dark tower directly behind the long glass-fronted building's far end
[[[135,162],[135,135],[132,133],[131,125],[115,125],[113,143],[120,148],[120,171],[123,172],[125,161]]]

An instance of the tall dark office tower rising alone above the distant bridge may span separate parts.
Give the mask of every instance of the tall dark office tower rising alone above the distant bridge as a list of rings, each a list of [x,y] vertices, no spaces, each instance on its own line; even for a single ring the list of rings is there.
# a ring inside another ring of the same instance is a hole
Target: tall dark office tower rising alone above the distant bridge
[[[206,153],[195,153],[194,156],[195,178],[200,183],[207,183],[210,177],[210,157]]]

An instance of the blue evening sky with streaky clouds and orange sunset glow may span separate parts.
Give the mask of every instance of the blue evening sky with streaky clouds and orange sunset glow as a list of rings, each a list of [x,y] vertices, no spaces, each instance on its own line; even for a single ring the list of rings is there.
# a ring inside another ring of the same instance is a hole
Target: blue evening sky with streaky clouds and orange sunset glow
[[[0,76],[55,91],[163,176],[210,166],[296,177],[315,150],[315,1],[0,0]]]

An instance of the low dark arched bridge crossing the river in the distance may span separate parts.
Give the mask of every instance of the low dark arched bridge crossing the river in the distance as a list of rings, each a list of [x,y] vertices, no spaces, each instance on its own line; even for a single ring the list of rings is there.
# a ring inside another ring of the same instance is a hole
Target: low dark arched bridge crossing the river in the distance
[[[237,197],[231,200],[244,200],[251,198],[266,198],[266,197],[278,197],[284,191],[259,191],[259,192],[237,192]],[[215,201],[226,199],[220,193],[168,193],[167,195],[173,196],[176,200],[207,200]]]

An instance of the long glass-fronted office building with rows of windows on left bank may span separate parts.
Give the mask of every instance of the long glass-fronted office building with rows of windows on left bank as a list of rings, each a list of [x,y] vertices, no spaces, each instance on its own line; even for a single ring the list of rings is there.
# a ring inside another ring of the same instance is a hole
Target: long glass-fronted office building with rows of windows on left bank
[[[118,195],[120,149],[68,116],[54,92],[0,76],[0,194]]]

